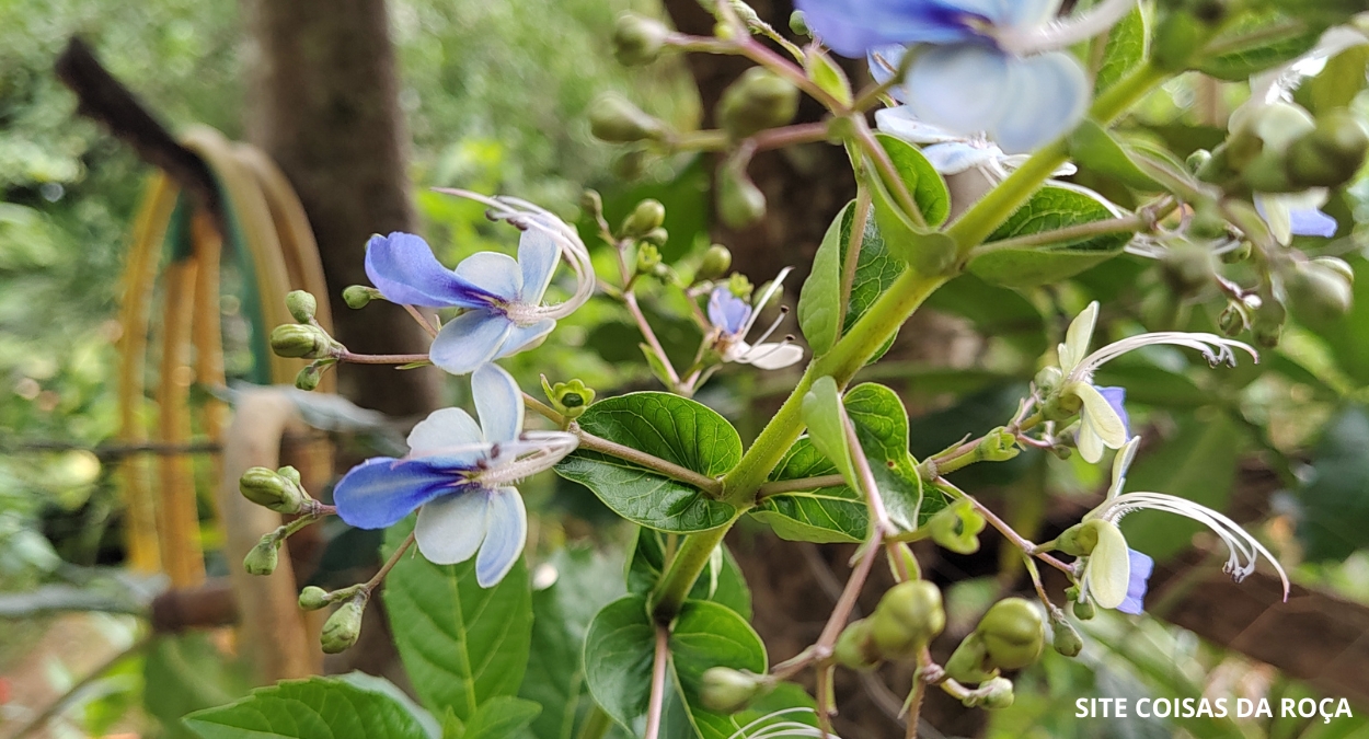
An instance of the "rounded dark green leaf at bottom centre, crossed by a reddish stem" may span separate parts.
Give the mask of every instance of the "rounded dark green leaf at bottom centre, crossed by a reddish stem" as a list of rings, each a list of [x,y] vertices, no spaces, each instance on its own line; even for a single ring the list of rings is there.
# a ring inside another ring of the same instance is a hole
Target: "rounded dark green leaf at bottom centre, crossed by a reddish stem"
[[[671,631],[661,736],[728,739],[741,725],[698,703],[704,671],[713,666],[767,671],[765,646],[739,614],[719,604],[686,601]],[[600,706],[630,734],[646,723],[656,656],[656,627],[646,598],[628,595],[604,606],[585,639],[585,672]]]

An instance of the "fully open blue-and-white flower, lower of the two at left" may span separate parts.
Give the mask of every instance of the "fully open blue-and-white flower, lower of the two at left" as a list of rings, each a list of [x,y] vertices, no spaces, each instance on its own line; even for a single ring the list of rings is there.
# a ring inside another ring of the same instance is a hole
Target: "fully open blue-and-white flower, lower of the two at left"
[[[419,509],[419,552],[435,564],[475,556],[475,579],[490,587],[527,539],[527,512],[513,484],[554,465],[579,439],[523,431],[523,393],[496,364],[475,370],[471,394],[479,424],[460,408],[433,412],[409,432],[407,457],[353,467],[333,498],[338,516],[357,528],[385,528]]]

